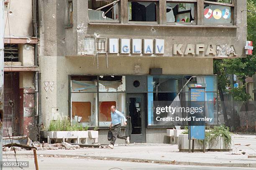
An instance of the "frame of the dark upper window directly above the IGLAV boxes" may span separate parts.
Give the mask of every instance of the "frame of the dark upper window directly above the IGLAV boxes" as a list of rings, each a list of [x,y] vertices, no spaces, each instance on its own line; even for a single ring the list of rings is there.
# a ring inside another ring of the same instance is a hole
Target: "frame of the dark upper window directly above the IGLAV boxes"
[[[129,21],[128,20],[128,2],[156,2],[156,21]],[[162,22],[162,10],[161,10],[161,2],[162,0],[124,0],[124,9],[125,9],[125,15],[124,15],[124,22],[128,24],[161,24]]]

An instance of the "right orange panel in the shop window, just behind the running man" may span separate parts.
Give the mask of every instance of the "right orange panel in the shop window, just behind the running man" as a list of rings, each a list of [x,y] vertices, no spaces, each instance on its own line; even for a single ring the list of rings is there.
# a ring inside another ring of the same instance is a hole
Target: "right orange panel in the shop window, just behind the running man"
[[[99,102],[100,104],[100,121],[111,121],[111,106],[115,106],[115,101]]]

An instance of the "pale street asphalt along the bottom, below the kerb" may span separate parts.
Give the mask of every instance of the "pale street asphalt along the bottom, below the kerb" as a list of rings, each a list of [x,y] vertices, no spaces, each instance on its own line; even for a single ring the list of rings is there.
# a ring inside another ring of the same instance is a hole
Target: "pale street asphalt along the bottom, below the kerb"
[[[14,157],[8,158],[14,161]],[[29,161],[29,168],[24,170],[35,170],[32,156],[18,156],[18,161]],[[4,161],[7,161],[4,159]],[[38,157],[39,170],[254,170],[253,168],[234,167],[207,167],[190,165],[166,165],[156,163],[133,163],[113,160],[88,160],[78,158],[49,158]],[[112,168],[112,169],[111,169]],[[4,170],[12,168],[4,168]],[[13,170],[20,170],[13,168]]]

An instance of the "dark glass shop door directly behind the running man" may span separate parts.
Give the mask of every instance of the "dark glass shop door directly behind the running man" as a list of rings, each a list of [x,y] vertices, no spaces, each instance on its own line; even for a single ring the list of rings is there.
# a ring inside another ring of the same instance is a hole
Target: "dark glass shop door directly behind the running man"
[[[146,94],[143,93],[128,93],[127,94],[127,112],[131,119],[131,143],[146,142]]]

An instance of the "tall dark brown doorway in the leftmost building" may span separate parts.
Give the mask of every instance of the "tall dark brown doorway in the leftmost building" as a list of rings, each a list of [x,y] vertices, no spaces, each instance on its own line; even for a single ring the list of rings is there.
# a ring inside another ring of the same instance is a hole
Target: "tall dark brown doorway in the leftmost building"
[[[11,102],[12,101],[12,102]],[[19,73],[4,73],[3,136],[18,135],[19,125]]]

